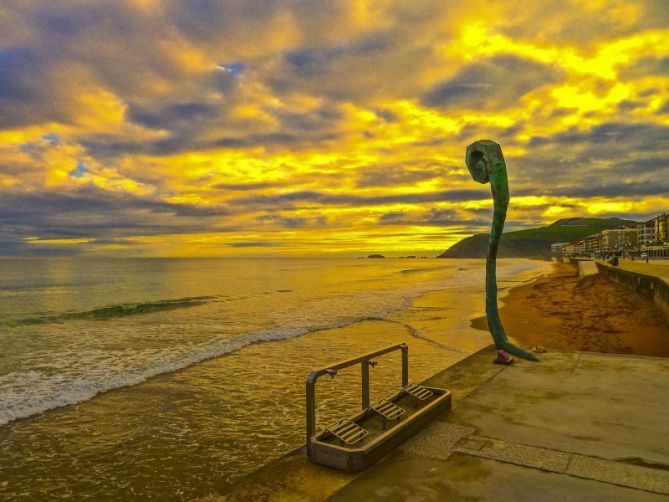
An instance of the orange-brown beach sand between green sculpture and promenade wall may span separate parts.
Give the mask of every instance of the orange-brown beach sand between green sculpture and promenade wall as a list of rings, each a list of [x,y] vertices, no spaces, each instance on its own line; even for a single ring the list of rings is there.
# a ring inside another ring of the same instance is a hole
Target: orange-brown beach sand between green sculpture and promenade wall
[[[522,346],[669,357],[669,328],[642,296],[576,267],[513,288],[500,302],[507,335]],[[487,330],[485,317],[472,327]]]

